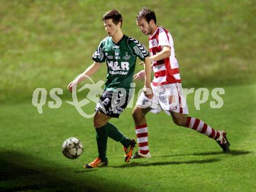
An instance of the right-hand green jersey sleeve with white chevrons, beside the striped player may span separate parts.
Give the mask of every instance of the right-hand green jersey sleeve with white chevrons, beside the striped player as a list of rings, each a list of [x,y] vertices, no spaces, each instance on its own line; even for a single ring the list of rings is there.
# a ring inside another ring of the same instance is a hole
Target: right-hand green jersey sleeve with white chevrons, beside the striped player
[[[131,37],[129,37],[129,47],[131,52],[133,52],[133,55],[136,55],[141,61],[144,61],[145,58],[150,55],[148,50],[140,43],[140,41]]]

